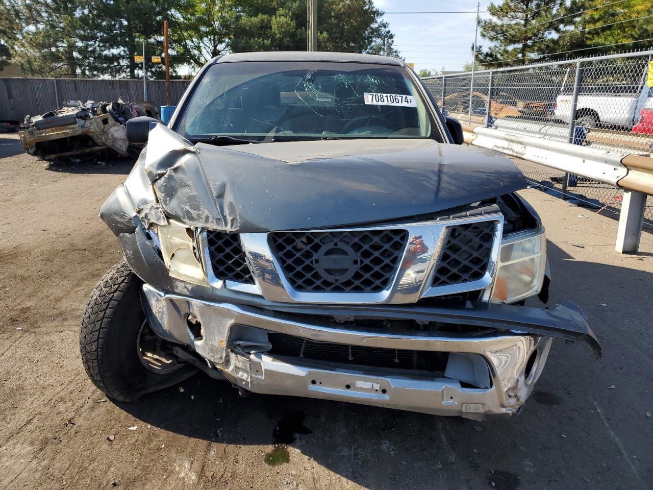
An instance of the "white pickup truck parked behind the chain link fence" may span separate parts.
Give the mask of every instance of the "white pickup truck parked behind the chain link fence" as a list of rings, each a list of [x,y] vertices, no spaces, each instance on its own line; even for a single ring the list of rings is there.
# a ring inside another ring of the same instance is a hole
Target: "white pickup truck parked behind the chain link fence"
[[[554,106],[554,118],[564,123],[569,123],[571,118],[572,89],[563,87]],[[624,93],[587,93],[588,89],[590,88],[582,88],[576,108],[577,125],[583,125],[587,129],[593,129],[599,124],[604,127],[626,126],[630,129],[639,121],[643,108],[653,108],[653,90],[643,83],[639,88],[633,87],[635,90]]]

